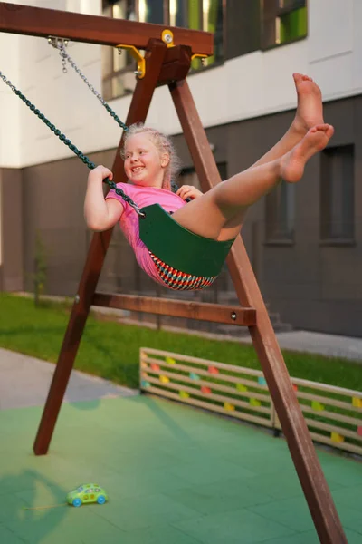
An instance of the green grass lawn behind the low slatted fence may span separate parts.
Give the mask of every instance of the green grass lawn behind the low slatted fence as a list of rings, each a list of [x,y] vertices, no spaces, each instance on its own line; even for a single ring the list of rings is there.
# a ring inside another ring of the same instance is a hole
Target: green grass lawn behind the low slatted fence
[[[70,306],[0,294],[0,347],[56,362],[70,316]],[[212,361],[261,369],[251,345],[209,340],[195,335],[119,325],[90,316],[76,358],[78,370],[138,387],[139,347],[154,347]],[[283,351],[291,376],[314,382],[360,388],[361,365],[344,359]]]

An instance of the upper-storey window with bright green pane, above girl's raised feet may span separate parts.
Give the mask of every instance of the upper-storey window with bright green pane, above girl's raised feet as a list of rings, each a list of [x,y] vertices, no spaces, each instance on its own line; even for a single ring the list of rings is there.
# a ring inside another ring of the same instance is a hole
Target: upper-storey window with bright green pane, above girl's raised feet
[[[306,37],[307,19],[307,0],[264,0],[262,48]]]

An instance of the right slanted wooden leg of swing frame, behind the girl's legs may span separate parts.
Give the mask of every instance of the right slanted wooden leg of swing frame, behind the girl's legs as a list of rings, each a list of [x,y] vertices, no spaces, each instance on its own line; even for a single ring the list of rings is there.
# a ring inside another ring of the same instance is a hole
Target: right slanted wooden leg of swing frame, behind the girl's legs
[[[186,81],[169,85],[186,142],[204,192],[220,182],[213,153]],[[249,327],[252,342],[262,364],[272,402],[281,421],[300,484],[322,544],[347,544],[329,486],[310,438],[281,349],[271,326],[262,294],[240,236],[236,238],[227,264],[242,306],[256,309],[257,325]]]

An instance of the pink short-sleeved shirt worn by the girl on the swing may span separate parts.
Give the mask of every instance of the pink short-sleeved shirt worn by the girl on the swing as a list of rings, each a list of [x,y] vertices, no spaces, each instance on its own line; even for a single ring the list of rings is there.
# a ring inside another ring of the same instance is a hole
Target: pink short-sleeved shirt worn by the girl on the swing
[[[157,189],[156,187],[141,187],[131,183],[118,183],[117,187],[122,189],[139,208],[144,208],[151,204],[159,204],[166,211],[176,211],[185,206],[185,200],[178,197],[175,193],[167,189]],[[148,248],[139,238],[138,213],[125,202],[122,197],[116,194],[114,189],[106,196],[106,199],[119,200],[123,206],[123,213],[119,219],[119,227],[127,238],[129,245],[135,252],[138,265],[158,283],[165,285],[158,276],[155,263],[149,256]]]

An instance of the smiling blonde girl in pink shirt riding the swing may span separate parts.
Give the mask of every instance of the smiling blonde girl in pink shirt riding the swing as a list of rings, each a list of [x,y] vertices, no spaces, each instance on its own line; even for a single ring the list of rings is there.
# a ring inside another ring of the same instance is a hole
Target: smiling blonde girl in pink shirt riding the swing
[[[319,87],[310,77],[294,73],[298,107],[290,129],[281,141],[251,168],[216,185],[205,194],[183,186],[171,191],[179,162],[171,141],[164,134],[136,124],[126,132],[124,168],[129,183],[119,188],[139,208],[158,203],[184,228],[215,240],[231,240],[240,233],[246,210],[280,180],[296,182],[312,155],[326,147],[333,127],[324,123]],[[112,180],[104,166],[91,170],[84,203],[89,228],[107,230],[119,226],[133,248],[138,264],[158,283],[173,289],[201,289],[214,277],[195,277],[175,270],[153,255],[139,238],[138,214],[114,190],[103,197],[102,180]],[[186,199],[191,199],[186,202]]]

